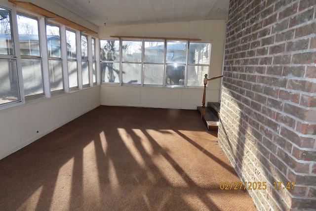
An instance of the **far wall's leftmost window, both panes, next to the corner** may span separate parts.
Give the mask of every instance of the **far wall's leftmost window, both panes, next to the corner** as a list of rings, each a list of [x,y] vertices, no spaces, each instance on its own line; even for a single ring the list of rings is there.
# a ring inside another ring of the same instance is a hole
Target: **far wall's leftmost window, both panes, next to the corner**
[[[100,41],[101,82],[119,83],[119,41]]]

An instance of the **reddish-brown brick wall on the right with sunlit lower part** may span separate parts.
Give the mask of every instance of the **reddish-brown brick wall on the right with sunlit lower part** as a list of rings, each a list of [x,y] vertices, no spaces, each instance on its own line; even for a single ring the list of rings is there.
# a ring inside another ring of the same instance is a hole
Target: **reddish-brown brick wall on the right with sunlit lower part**
[[[267,183],[249,190],[258,210],[316,209],[315,63],[315,0],[230,1],[218,140]]]

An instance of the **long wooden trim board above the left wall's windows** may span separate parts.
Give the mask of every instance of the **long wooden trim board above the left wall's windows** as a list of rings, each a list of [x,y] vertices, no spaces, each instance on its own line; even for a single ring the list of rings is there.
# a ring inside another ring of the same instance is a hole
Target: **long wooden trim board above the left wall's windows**
[[[28,9],[32,12],[40,14],[42,16],[52,18],[54,21],[61,23],[61,24],[64,24],[66,26],[69,26],[73,29],[83,31],[84,33],[87,33],[87,34],[98,34],[97,32],[94,32],[94,31],[92,31],[88,28],[85,28],[77,23],[74,23],[74,22],[72,22],[64,17],[61,17],[53,12],[50,12],[50,11],[48,11],[48,10],[38,6],[38,5],[35,5],[34,3],[26,2],[26,1],[18,1],[18,0],[8,0],[8,1],[13,3],[13,4],[16,4],[18,6],[21,6],[25,9]]]

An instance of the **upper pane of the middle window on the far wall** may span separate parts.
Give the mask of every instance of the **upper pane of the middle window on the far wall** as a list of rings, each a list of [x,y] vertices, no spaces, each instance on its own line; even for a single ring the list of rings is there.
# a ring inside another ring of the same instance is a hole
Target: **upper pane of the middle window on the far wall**
[[[144,62],[163,62],[164,42],[145,41],[145,59]]]

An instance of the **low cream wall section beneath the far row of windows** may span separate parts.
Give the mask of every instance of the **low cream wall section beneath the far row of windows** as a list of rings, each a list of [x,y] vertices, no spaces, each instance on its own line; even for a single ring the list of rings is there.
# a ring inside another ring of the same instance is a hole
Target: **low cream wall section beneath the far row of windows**
[[[217,89],[208,89],[206,102],[217,102]],[[101,104],[152,108],[197,109],[203,89],[101,85]]]

